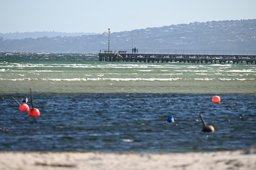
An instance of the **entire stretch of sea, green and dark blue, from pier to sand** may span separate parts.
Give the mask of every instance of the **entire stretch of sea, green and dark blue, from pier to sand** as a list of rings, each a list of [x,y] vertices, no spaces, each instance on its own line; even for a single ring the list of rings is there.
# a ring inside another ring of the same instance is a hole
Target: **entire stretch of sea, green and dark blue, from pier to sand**
[[[177,153],[256,144],[255,64],[0,52],[0,85],[1,151]],[[12,99],[28,97],[32,108],[29,88],[39,117]],[[201,132],[199,114],[214,133]]]

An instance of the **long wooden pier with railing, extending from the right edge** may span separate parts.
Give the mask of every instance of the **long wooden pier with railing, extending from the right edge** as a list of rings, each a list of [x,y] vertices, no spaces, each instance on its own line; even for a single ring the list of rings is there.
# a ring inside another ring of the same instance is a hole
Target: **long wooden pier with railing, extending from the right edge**
[[[256,51],[100,49],[99,61],[256,64]]]

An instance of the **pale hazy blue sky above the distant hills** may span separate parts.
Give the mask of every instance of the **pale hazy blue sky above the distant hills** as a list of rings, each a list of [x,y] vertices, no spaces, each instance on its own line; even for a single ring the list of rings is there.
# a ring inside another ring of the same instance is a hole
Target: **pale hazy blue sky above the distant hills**
[[[256,19],[255,0],[0,0],[0,7],[0,33],[113,33]]]

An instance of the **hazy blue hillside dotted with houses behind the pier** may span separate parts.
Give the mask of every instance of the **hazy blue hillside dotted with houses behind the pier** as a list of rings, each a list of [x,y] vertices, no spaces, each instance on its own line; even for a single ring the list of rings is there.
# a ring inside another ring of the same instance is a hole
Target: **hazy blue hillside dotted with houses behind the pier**
[[[111,30],[111,28],[110,28]],[[110,33],[110,49],[256,51],[256,19],[193,22]],[[0,51],[99,53],[108,33],[77,36],[0,37]]]

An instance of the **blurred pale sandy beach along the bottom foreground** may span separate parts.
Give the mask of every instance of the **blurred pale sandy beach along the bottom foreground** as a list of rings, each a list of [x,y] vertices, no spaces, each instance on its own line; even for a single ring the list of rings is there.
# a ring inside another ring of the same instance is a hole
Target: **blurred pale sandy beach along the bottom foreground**
[[[0,170],[256,169],[256,147],[200,153],[0,152]]]

